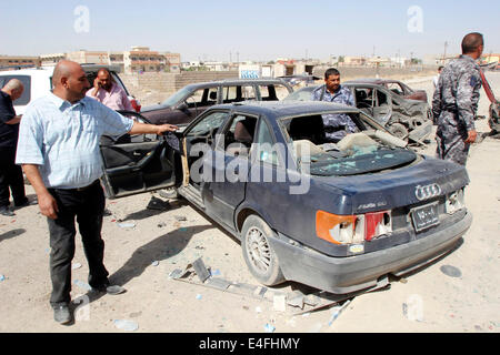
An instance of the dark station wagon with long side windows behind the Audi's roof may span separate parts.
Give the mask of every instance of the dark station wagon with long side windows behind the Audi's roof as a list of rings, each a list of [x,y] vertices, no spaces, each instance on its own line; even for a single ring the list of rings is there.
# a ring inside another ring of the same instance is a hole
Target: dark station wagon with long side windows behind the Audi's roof
[[[208,108],[240,101],[278,101],[293,89],[280,79],[228,79],[183,87],[162,103],[141,110],[153,124],[187,124]]]

